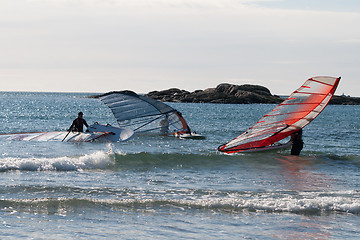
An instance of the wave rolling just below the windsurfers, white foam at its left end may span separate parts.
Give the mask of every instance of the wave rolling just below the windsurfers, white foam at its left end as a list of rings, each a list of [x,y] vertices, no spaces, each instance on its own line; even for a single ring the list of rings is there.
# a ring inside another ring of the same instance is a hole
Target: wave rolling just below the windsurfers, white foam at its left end
[[[328,161],[334,164],[355,164],[360,165],[360,158],[357,155],[319,155],[309,153],[301,157],[293,158],[285,154],[239,154],[224,155],[221,153],[204,154],[181,154],[181,153],[121,153],[114,152],[111,148],[108,151],[96,151],[84,155],[61,156],[61,157],[5,157],[0,161],[0,172],[20,171],[84,171],[96,169],[137,169],[144,167],[231,167],[238,164],[280,164],[282,159],[286,161]]]

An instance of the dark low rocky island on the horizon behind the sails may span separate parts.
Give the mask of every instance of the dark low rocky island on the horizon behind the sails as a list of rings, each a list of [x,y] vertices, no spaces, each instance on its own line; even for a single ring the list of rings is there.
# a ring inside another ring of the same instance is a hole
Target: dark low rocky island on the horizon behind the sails
[[[228,83],[219,84],[215,88],[196,90],[189,92],[178,88],[170,88],[163,91],[152,91],[146,96],[163,102],[187,102],[187,103],[281,103],[284,98],[272,95],[270,90],[259,85],[234,85]],[[347,96],[334,96],[330,104],[359,105],[360,98]]]

